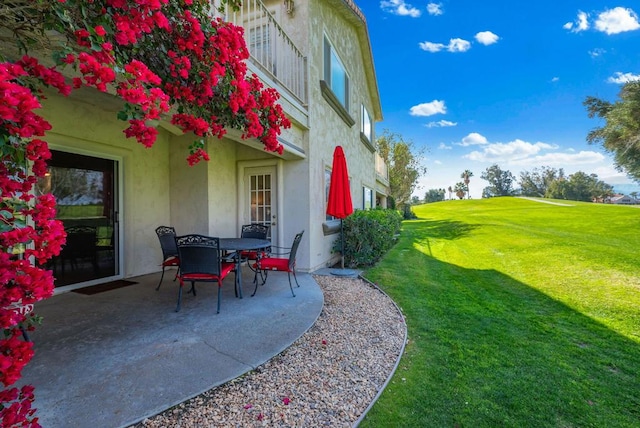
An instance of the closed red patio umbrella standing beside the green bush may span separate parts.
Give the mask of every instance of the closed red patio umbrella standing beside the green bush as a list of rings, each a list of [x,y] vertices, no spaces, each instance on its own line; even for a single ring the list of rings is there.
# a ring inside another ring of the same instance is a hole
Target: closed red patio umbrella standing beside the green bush
[[[347,159],[341,146],[336,146],[333,151],[333,169],[331,171],[331,185],[329,186],[329,200],[327,201],[327,214],[340,219],[340,247],[341,266],[344,269],[344,233],[342,220],[353,212],[351,202],[351,188],[349,187],[349,172],[347,171]]]

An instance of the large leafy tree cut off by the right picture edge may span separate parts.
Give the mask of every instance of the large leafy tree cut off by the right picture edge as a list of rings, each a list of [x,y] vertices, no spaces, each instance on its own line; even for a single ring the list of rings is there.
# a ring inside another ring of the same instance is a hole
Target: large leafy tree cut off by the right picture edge
[[[587,135],[589,143],[601,144],[614,155],[618,170],[640,182],[640,81],[626,83],[615,103],[587,97],[584,105],[590,118],[606,121]]]

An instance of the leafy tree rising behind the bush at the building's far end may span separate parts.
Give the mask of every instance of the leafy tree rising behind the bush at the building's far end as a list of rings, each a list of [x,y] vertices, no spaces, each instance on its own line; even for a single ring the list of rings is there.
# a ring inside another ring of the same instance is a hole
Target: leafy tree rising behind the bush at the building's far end
[[[416,150],[411,141],[385,130],[376,140],[378,153],[389,170],[389,196],[398,208],[409,203],[420,175],[427,172],[421,166],[422,151]]]

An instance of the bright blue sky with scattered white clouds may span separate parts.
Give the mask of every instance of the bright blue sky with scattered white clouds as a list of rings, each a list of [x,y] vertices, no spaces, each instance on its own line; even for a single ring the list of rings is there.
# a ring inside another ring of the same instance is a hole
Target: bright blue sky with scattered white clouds
[[[469,169],[471,197],[494,163],[596,173],[633,183],[586,142],[603,122],[587,96],[615,101],[640,79],[640,2],[357,0],[367,18],[388,129],[425,149],[414,195],[447,188]],[[640,190],[633,188],[633,190]]]

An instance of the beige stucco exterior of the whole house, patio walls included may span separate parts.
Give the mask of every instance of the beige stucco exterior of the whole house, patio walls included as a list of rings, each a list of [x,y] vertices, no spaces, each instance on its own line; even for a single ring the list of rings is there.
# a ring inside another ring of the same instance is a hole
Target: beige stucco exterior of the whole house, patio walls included
[[[366,23],[348,0],[298,1],[293,14],[286,13],[279,0],[265,5],[307,58],[308,103],[303,105],[282,91],[282,105],[293,123],[281,136],[282,156],[230,131],[227,137],[208,142],[210,162],[190,167],[186,157],[191,136],[161,122],[153,148],[125,138],[126,122],[116,118],[120,103],[110,95],[82,90],[70,98],[51,94],[44,103],[41,113],[53,126],[48,134],[53,149],[119,162],[120,276],[160,270],[154,233],[159,225],[174,226],[178,234],[237,236],[248,222],[244,177],[251,168],[275,171],[274,244],[289,245],[295,233],[305,230],[297,260],[302,271],[328,266],[338,257],[331,248],[339,235],[335,228],[327,233],[325,224],[325,170],[332,165],[336,145],[343,147],[347,158],[354,208],[363,208],[364,186],[384,193],[376,175],[374,146],[360,133],[361,105],[374,122],[382,116]],[[349,76],[352,125],[322,93],[325,36]],[[250,69],[260,73],[251,64]],[[278,88],[269,76],[259,75]]]

